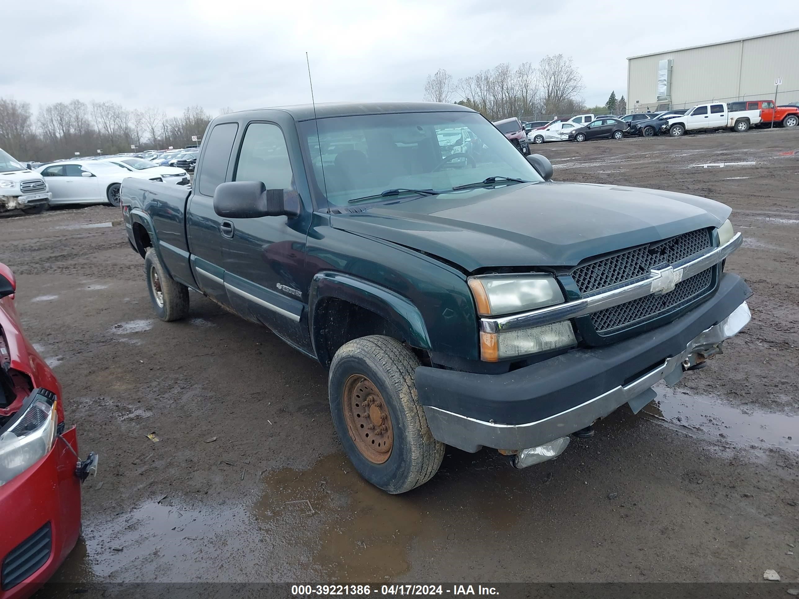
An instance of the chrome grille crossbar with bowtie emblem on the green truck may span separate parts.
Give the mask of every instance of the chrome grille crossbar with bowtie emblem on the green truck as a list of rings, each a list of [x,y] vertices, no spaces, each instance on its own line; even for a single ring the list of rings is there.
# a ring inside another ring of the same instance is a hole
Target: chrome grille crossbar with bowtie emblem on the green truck
[[[608,307],[618,306],[620,303],[638,300],[639,297],[651,296],[670,292],[674,285],[684,279],[718,264],[725,260],[743,243],[741,233],[736,233],[731,240],[718,248],[708,250],[702,256],[693,260],[681,260],[673,267],[652,269],[644,280],[626,285],[625,287],[611,289],[608,292],[587,296],[574,302],[559,303],[550,306],[499,318],[483,318],[480,320],[481,328],[486,333],[501,333],[515,331],[521,328],[540,327],[543,324],[557,323],[560,320],[577,318],[593,312],[604,310]]]

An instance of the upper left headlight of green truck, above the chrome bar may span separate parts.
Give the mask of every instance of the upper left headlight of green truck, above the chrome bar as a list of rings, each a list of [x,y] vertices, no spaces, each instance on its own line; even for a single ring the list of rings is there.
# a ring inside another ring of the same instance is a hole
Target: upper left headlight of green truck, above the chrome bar
[[[513,314],[565,301],[550,275],[470,276],[467,282],[481,316]]]

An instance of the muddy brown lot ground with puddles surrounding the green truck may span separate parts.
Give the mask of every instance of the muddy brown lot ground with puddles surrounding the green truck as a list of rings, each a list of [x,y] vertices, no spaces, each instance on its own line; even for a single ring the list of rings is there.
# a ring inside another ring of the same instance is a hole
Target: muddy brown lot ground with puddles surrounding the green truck
[[[110,224],[118,209],[0,218],[27,335],[62,382],[81,452],[101,455],[62,589],[761,581],[765,569],[797,581],[799,131],[536,149],[558,180],[730,204],[746,240],[727,268],[755,292],[753,322],[710,367],[658,387],[646,414],[623,408],[555,461],[518,471],[492,451],[447,450],[399,497],[344,457],[318,364],[196,294],[185,322],[155,319],[141,258]]]

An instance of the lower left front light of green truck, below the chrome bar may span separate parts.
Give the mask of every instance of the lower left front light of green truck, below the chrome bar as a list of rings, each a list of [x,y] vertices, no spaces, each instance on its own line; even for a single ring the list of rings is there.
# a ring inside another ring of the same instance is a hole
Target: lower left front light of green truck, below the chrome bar
[[[574,329],[568,320],[500,333],[480,332],[480,359],[498,362],[522,355],[538,354],[577,344]]]

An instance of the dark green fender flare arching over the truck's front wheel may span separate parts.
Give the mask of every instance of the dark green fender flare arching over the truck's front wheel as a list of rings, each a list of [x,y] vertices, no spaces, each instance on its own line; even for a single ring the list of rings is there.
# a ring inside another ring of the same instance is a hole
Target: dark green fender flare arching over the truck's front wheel
[[[319,326],[316,323],[316,306],[328,298],[348,301],[375,312],[392,323],[411,347],[431,350],[427,324],[411,300],[370,281],[327,271],[316,273],[308,291],[308,326],[314,353],[320,358],[323,356],[320,354],[321,348],[316,347],[316,330]]]

